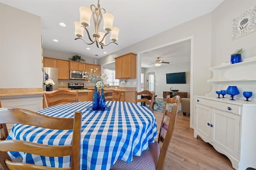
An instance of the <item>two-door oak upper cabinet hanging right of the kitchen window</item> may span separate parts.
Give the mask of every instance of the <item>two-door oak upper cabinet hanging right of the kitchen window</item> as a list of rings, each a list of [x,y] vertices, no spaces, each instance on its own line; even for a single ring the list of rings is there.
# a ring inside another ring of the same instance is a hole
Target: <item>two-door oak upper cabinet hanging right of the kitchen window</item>
[[[128,53],[115,58],[116,79],[136,79],[137,54]]]

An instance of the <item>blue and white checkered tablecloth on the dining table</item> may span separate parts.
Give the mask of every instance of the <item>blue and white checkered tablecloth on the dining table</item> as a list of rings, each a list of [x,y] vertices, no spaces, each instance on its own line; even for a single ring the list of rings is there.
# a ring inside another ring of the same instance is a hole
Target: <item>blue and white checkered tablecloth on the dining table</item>
[[[118,159],[132,161],[148,149],[157,138],[156,119],[146,107],[127,102],[107,101],[111,108],[91,111],[92,102],[78,102],[48,107],[37,111],[52,117],[74,117],[82,112],[80,168],[108,170]],[[27,140],[42,144],[64,145],[72,142],[72,130],[50,130],[28,125],[14,125],[7,139]],[[20,157],[32,164],[68,167],[70,156],[43,157],[23,152],[10,152],[11,158]]]

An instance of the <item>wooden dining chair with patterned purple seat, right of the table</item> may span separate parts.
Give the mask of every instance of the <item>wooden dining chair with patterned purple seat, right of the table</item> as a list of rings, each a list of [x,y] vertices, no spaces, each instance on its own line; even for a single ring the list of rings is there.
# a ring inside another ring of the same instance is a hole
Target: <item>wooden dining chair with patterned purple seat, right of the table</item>
[[[169,111],[170,103],[174,103],[171,111]],[[179,105],[180,96],[173,98],[170,98],[170,95],[166,96],[158,142],[149,143],[149,149],[144,150],[141,156],[132,156],[132,162],[117,160],[110,170],[164,170],[165,157],[174,131]],[[170,119],[167,119],[167,117]],[[169,123],[167,123],[168,121]],[[161,149],[160,142],[162,142]]]

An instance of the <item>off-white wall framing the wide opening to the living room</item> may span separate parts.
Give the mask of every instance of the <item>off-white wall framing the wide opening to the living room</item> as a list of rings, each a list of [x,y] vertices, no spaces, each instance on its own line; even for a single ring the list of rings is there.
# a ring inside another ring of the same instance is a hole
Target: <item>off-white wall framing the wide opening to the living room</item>
[[[168,20],[167,20],[168,22]],[[164,24],[164,23],[163,23]],[[174,28],[152,36],[146,40],[130,45],[120,51],[116,51],[106,57],[99,59],[99,63],[109,63],[114,61],[114,57],[129,52],[139,53],[152,49],[170,42],[175,42],[184,38],[194,36],[194,95],[205,95],[210,91],[210,84],[207,80],[211,74],[209,67],[211,65],[211,37],[212,37],[212,15],[206,14]],[[192,42],[191,42],[192,43]],[[128,80],[133,84],[134,79]]]

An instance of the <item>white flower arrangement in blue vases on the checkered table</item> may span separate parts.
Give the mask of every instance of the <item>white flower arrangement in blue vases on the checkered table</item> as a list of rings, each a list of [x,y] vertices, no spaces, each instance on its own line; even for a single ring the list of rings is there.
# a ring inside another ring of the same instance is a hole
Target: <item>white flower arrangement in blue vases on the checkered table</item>
[[[106,75],[106,73],[101,73],[100,72],[100,76],[96,76],[96,75],[94,75],[94,73],[97,70],[98,69],[96,69],[96,70],[91,69],[90,73],[89,73],[85,69],[84,78],[89,79],[89,82],[94,83],[94,85],[97,87],[97,89],[100,90],[100,89],[103,89],[103,87],[106,83],[106,80],[108,79],[108,75]]]

